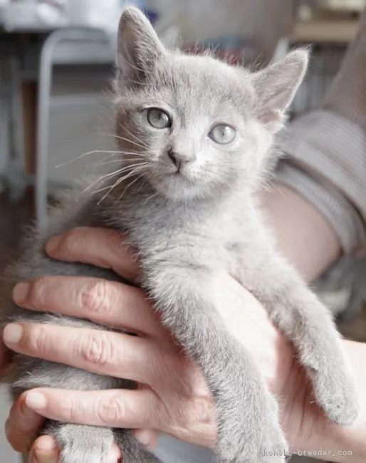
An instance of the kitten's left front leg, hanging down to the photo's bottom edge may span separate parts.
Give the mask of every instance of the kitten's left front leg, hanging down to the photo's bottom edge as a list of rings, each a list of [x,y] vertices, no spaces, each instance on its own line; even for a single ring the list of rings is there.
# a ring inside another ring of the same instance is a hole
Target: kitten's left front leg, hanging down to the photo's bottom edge
[[[284,462],[287,445],[278,405],[251,355],[226,331],[212,296],[216,281],[208,271],[187,266],[154,263],[150,268],[144,281],[162,321],[197,360],[214,397],[219,461]]]

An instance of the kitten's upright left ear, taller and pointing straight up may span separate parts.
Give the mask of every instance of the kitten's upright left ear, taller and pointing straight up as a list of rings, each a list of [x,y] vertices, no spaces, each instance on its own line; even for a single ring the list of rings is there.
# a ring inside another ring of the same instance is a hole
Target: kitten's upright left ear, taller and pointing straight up
[[[164,53],[165,48],[145,14],[135,6],[127,7],[118,29],[117,70],[122,83],[143,80]]]

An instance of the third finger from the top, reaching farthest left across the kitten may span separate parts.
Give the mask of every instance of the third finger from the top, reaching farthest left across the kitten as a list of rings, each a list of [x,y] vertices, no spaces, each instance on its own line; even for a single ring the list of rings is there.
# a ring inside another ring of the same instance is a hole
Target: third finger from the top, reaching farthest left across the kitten
[[[3,339],[17,353],[149,385],[160,356],[151,340],[90,328],[13,323]]]

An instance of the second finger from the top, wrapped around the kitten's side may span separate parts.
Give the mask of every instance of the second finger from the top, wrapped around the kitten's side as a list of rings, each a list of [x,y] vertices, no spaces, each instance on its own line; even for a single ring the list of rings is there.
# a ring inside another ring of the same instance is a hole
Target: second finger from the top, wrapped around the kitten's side
[[[45,276],[16,285],[13,298],[19,306],[33,311],[88,318],[149,335],[162,331],[145,293],[115,281]]]

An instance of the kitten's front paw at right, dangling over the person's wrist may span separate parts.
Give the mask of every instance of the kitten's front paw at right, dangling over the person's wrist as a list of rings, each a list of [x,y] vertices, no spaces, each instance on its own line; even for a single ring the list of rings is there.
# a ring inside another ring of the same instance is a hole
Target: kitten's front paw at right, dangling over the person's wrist
[[[340,366],[312,376],[315,398],[328,418],[338,425],[352,425],[360,410],[352,376]]]

